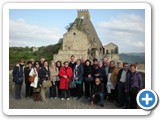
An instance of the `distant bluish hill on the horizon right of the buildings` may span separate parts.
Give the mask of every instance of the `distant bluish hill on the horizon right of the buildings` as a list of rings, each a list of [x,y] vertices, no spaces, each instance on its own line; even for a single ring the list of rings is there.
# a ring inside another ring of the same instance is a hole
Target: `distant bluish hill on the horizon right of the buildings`
[[[145,53],[120,53],[120,59],[128,63],[145,63]]]

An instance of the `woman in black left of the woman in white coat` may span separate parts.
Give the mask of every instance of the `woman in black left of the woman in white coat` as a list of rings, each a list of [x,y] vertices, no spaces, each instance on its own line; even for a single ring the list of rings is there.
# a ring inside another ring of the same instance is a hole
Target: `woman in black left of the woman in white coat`
[[[30,86],[31,82],[29,81],[29,73],[32,69],[32,62],[31,61],[28,61],[27,62],[27,67],[25,67],[24,69],[24,75],[25,75],[25,84],[26,84],[26,95],[25,97],[28,99],[29,97],[32,96],[33,94],[33,89],[32,87]]]

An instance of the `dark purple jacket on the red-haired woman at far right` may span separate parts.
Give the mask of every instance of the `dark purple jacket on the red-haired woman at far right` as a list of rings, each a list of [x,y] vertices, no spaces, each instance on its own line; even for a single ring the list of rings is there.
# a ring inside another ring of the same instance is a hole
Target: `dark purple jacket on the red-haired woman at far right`
[[[138,88],[139,90],[142,89],[142,76],[139,72],[127,74],[125,89],[129,92],[132,91],[132,88]]]

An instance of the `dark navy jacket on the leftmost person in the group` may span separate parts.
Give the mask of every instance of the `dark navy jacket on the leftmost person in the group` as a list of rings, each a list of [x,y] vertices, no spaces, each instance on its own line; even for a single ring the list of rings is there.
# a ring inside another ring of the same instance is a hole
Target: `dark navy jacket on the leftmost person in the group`
[[[23,73],[24,73],[24,66],[21,66],[20,64],[17,64],[12,72],[13,75],[13,82],[17,84],[23,83]]]

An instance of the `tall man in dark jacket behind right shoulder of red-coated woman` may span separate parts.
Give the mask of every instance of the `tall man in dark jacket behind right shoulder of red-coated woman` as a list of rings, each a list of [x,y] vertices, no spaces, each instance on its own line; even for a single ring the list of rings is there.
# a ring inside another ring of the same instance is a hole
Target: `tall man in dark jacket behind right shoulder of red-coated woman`
[[[76,67],[76,58],[74,55],[71,56],[71,61],[69,62],[69,67],[72,68],[72,72],[74,71],[74,68]],[[71,97],[76,97],[76,88],[71,88],[70,89],[70,95]]]

